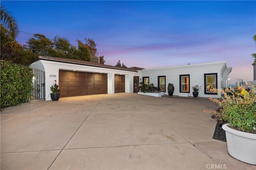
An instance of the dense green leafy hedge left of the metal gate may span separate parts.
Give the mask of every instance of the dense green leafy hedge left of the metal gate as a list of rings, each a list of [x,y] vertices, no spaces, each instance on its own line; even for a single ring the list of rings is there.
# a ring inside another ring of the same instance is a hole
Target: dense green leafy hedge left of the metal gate
[[[32,68],[1,61],[1,109],[28,102],[32,90]]]

